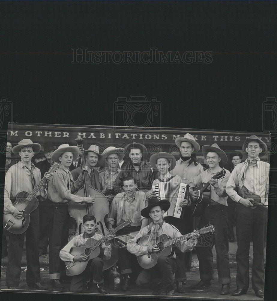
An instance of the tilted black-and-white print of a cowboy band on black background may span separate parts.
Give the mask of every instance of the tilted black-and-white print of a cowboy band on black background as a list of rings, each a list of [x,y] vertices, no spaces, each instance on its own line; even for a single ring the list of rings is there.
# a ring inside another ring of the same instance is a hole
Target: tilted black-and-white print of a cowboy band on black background
[[[1,289],[263,298],[270,138],[9,125]]]

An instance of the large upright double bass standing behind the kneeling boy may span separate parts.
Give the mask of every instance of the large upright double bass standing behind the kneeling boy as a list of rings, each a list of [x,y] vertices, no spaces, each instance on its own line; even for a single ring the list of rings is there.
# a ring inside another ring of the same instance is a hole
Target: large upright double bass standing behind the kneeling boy
[[[95,203],[75,203],[69,202],[68,204],[68,211],[69,215],[75,219],[76,221],[76,232],[69,237],[71,240],[74,236],[81,234],[82,231],[82,223],[83,223],[83,216],[86,214],[93,214],[96,218],[96,225],[98,225],[98,229],[102,232],[103,235],[109,234],[109,230],[105,225],[105,218],[108,216],[109,213],[109,202],[107,197],[97,189],[91,187],[91,180],[89,178],[89,173],[86,170],[83,170],[83,167],[86,165],[85,155],[84,155],[84,148],[83,148],[83,138],[79,135],[75,140],[77,142],[77,146],[80,150],[80,160],[81,160],[81,169],[83,173],[83,187],[77,190],[74,194],[79,195],[80,197],[88,197],[94,196]],[[103,270],[107,270],[111,268],[113,265],[116,264],[118,260],[118,248],[113,246],[112,244],[112,255],[109,260],[104,261],[104,268]]]

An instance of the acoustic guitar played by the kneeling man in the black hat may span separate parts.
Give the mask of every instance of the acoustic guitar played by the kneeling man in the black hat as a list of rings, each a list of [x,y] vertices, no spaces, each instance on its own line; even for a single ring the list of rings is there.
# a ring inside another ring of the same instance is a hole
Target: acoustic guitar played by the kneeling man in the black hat
[[[208,227],[201,228],[200,230],[197,230],[196,233],[199,234],[205,234],[205,233],[211,233],[215,231],[215,227],[213,225],[210,225]],[[157,260],[159,256],[172,256],[174,253],[174,248],[171,246],[173,244],[176,244],[182,240],[188,239],[192,236],[191,232],[188,234],[185,234],[183,236],[177,237],[175,239],[171,239],[166,234],[162,234],[161,236],[157,237],[156,245],[160,248],[160,251],[158,253],[148,253],[144,255],[137,256],[137,261],[140,264],[142,268],[152,268],[157,264]],[[140,246],[147,246],[149,235],[145,235],[139,239],[137,242]]]

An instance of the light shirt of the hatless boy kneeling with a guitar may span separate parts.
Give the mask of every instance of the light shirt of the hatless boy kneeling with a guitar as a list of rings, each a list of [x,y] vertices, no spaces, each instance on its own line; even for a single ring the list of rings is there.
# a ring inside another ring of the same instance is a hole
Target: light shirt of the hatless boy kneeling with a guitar
[[[95,240],[100,240],[103,236],[101,234],[95,233],[91,238]],[[89,239],[89,237],[85,237],[85,233],[79,234],[75,237],[73,237],[65,247],[60,250],[60,258],[63,261],[74,261],[75,255],[71,255],[69,252],[71,248],[73,247],[82,247],[85,245],[86,241]],[[111,245],[106,245],[105,243],[101,244],[101,247],[104,250],[104,260],[109,260],[111,258]],[[81,253],[81,252],[80,252]]]

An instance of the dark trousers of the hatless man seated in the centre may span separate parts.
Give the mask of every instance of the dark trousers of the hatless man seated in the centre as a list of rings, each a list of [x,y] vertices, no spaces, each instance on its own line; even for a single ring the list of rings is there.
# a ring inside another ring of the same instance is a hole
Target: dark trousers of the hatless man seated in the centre
[[[125,235],[129,234],[130,232],[139,231],[140,226],[131,226],[127,229],[122,229],[117,232],[117,235]],[[137,262],[137,256],[131,254],[127,249],[118,249],[118,268],[121,271],[121,274],[130,274],[132,272],[138,272],[139,265]]]

